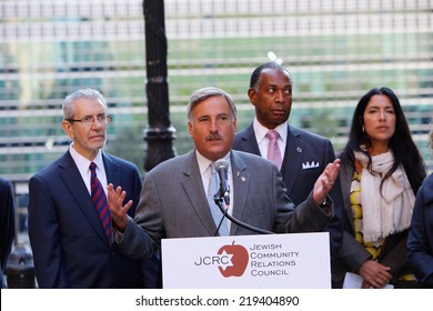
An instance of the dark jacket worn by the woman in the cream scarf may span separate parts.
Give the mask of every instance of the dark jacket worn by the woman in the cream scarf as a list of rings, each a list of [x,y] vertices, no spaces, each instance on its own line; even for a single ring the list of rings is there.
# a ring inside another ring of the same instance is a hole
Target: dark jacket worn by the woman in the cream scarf
[[[334,281],[339,285],[343,284],[345,272],[359,273],[362,263],[371,258],[371,254],[354,237],[353,213],[350,202],[350,188],[354,170],[349,165],[346,159],[341,158],[341,161],[340,179],[344,199],[344,235],[339,259],[333,265],[332,271]],[[391,268],[390,273],[393,278],[390,283],[392,284],[396,283],[400,275],[411,273],[406,264],[407,234],[409,230],[405,230],[386,237],[377,258],[379,262]]]

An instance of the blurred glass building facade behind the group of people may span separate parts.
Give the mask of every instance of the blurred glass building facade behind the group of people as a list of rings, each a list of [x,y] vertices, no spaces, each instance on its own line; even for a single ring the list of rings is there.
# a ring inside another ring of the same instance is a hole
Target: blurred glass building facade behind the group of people
[[[145,98],[141,0],[0,0],[0,174],[27,180],[62,154],[61,103],[99,89],[114,121],[107,150],[142,168]],[[253,117],[252,70],[276,60],[294,79],[290,122],[336,150],[367,90],[392,88],[429,169],[433,118],[431,0],[165,0],[170,118],[178,154],[192,148],[189,94],[215,86]],[[144,171],[143,171],[144,173]]]

